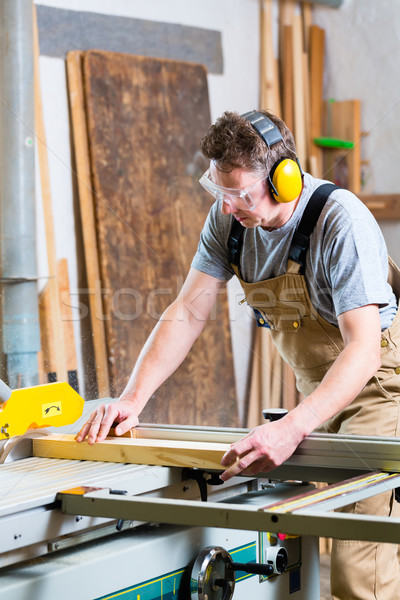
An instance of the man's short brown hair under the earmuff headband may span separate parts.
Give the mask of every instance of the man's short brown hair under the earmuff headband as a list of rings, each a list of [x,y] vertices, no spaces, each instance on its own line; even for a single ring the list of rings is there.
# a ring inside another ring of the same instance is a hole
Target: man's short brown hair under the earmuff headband
[[[242,168],[268,174],[279,159],[296,158],[293,134],[286,123],[266,110],[259,112],[278,127],[282,141],[268,148],[249,121],[237,112],[226,111],[200,142],[202,153],[215,162],[217,169],[229,173]]]

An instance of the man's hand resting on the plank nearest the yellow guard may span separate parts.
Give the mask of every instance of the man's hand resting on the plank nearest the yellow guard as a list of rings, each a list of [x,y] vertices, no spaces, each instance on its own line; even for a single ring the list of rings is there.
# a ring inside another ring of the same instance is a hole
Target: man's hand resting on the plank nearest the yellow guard
[[[116,435],[123,435],[139,423],[137,409],[130,400],[119,400],[114,404],[102,404],[92,412],[80,432],[75,437],[77,442],[83,442],[87,437],[89,444],[102,442],[114,421],[119,423],[115,428]]]

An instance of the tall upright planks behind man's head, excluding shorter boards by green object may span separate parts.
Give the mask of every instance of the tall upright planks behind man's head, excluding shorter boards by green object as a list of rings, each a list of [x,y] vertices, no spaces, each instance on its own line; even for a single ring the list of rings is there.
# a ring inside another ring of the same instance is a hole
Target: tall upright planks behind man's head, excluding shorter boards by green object
[[[279,11],[277,40],[274,8]],[[321,135],[324,39],[324,30],[312,24],[310,3],[261,1],[260,106],[286,122],[301,165],[316,175],[322,159],[312,139]]]

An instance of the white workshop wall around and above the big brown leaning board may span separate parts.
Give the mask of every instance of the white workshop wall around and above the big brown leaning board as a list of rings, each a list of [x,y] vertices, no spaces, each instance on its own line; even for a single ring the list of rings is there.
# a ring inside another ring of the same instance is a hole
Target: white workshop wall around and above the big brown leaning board
[[[146,31],[149,36],[153,36],[153,41],[155,38],[163,40],[164,48],[161,42],[158,46],[153,46],[154,55],[162,57],[169,49],[171,52],[182,51],[185,43],[187,44],[188,35],[192,35],[193,47],[186,47],[186,57],[168,54],[167,57],[193,62],[208,61],[210,110],[211,118],[215,120],[227,109],[245,112],[258,106],[259,5],[258,0],[196,0],[190,3],[185,0],[41,0],[36,5],[57,258],[68,259],[75,337],[80,340],[78,262],[82,262],[83,257],[76,251],[71,140],[63,52],[87,49],[92,44],[92,48],[95,45],[100,49],[140,53],[136,38],[140,32]],[[84,12],[91,14],[85,16],[82,14]],[[142,22],[143,27],[140,21],[135,22],[138,19],[145,20]],[[153,27],[148,22],[153,22]],[[181,27],[180,31],[174,30],[177,26]],[[102,28],[103,38],[101,35],[96,38],[96,31],[93,31],[95,27]],[[129,38],[129,29],[123,31],[128,27],[132,28],[130,39],[124,38],[124,35]],[[146,51],[144,53],[151,53],[151,40],[142,39],[142,42]],[[73,45],[67,48],[69,44]],[[204,44],[211,45],[214,55],[209,52],[207,56]],[[39,177],[37,179],[39,182]],[[37,196],[38,268],[40,281],[44,285],[47,258],[39,183]],[[154,285],[156,286],[156,282]],[[246,309],[237,306],[236,295],[239,290],[236,284],[232,282],[229,289],[233,346],[234,350],[238,349],[234,351],[237,391],[239,402],[243,404],[251,333]],[[78,342],[79,379],[82,382],[82,348],[79,346]]]

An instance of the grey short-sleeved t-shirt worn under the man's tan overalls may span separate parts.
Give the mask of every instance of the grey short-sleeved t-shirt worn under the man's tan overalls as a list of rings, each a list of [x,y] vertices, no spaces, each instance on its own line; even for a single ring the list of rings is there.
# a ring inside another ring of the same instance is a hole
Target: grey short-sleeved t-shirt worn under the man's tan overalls
[[[279,229],[245,229],[240,270],[247,282],[263,281],[286,273],[289,249],[304,209],[323,183],[304,174],[304,188],[296,210]],[[201,232],[192,267],[227,281],[233,275],[228,238],[234,217],[223,215],[219,203],[211,207]],[[387,282],[388,259],[381,230],[366,206],[348,190],[334,190],[311,235],[305,279],[317,312],[338,325],[343,312],[378,304],[382,330],[397,311],[396,297]]]

